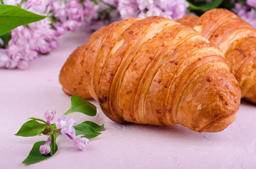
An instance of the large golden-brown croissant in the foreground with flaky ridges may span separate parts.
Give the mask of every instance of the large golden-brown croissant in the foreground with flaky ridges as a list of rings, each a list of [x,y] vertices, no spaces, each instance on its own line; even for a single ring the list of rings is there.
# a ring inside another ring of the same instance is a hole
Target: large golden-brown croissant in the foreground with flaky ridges
[[[114,22],[67,59],[64,92],[99,100],[115,122],[219,132],[235,119],[241,91],[218,47],[164,17]]]

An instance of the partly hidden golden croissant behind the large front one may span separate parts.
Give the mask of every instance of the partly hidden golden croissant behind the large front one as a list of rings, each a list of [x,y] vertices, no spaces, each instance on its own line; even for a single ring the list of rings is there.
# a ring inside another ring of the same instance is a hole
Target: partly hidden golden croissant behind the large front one
[[[224,53],[241,88],[241,97],[256,104],[256,30],[226,9],[212,9],[201,17],[177,22],[191,26]]]

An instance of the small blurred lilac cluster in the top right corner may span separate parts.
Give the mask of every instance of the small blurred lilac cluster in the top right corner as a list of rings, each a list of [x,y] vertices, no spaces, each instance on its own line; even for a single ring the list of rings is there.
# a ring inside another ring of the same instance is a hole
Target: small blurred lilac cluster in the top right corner
[[[247,6],[242,3],[236,3],[232,11],[256,28],[256,0],[247,0],[246,3]]]

